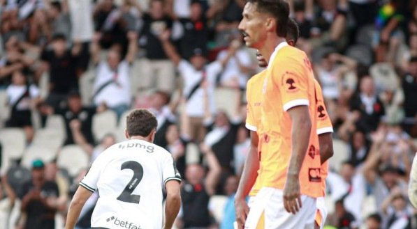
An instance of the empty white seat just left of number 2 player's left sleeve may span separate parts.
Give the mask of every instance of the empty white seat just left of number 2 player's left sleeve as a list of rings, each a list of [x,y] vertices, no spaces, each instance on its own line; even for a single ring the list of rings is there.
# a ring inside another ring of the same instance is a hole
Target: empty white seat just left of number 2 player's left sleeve
[[[68,171],[71,177],[75,177],[82,170],[87,168],[89,157],[87,152],[78,145],[66,145],[58,154],[57,165]]]

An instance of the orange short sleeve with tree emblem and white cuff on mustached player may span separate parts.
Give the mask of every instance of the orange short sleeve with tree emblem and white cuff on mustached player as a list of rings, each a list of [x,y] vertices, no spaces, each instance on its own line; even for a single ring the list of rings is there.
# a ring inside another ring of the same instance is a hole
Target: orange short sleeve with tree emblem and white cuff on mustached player
[[[308,77],[310,75],[307,74],[307,67],[294,58],[286,58],[279,63],[279,66],[272,69],[272,80],[281,88],[279,93],[284,111],[295,106],[309,106]]]

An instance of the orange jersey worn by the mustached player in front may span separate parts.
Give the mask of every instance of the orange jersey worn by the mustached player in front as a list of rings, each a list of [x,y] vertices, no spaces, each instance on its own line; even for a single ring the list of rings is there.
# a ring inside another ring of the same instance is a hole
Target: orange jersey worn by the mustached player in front
[[[261,187],[284,189],[292,144],[292,122],[286,111],[304,105],[309,107],[312,129],[300,170],[300,191],[322,196],[314,74],[307,55],[286,42],[279,44],[270,58],[262,95]]]

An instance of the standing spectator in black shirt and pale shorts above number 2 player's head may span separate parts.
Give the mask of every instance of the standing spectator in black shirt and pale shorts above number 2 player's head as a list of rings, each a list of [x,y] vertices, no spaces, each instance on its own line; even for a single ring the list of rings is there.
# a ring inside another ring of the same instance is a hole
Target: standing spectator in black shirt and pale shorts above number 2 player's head
[[[149,13],[143,15],[142,29],[139,33],[140,46],[146,52],[142,60],[140,86],[142,89],[148,89],[156,84],[159,90],[172,93],[175,86],[173,63],[169,61],[168,54],[158,38],[163,31],[172,29],[173,21],[164,13],[164,1],[151,0],[149,4]]]

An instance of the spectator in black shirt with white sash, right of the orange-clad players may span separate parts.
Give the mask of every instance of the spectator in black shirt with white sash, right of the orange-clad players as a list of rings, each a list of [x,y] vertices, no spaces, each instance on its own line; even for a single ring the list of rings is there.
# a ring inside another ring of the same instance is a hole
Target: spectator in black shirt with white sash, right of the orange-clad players
[[[369,75],[359,80],[358,92],[351,100],[351,110],[360,112],[356,126],[365,134],[374,131],[385,115],[383,104],[375,91],[374,79]]]

